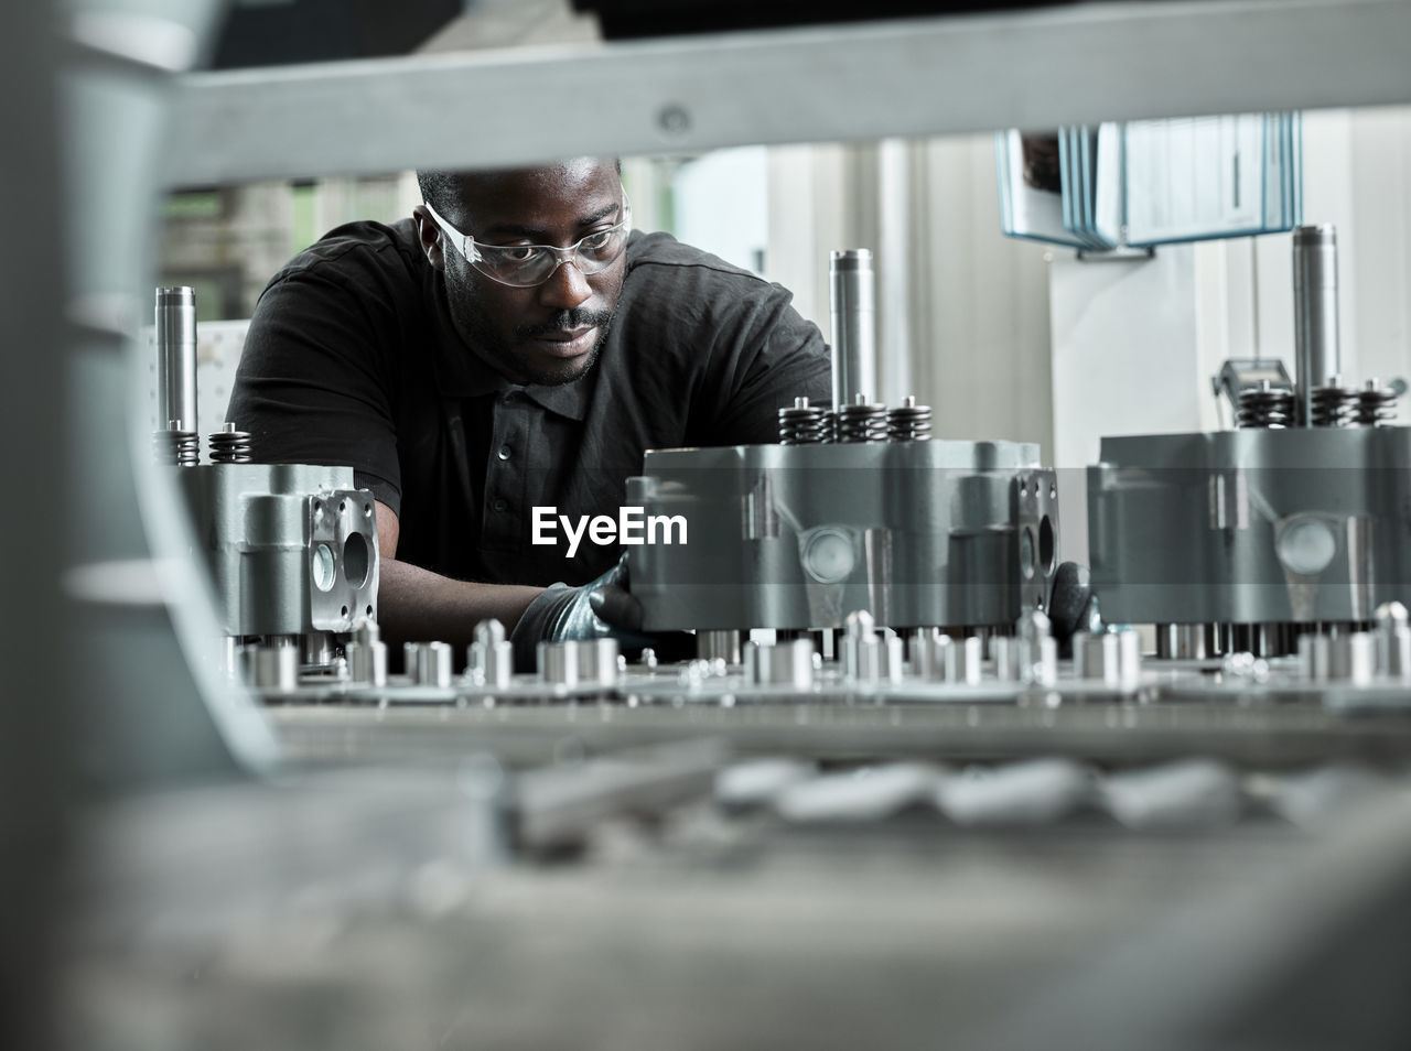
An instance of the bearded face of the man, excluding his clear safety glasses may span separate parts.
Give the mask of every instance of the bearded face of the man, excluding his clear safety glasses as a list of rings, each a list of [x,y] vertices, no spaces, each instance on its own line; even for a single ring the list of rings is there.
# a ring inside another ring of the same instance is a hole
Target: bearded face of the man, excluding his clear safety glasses
[[[611,161],[467,175],[443,217],[481,244],[566,248],[622,220],[622,186]],[[512,288],[471,267],[419,213],[422,244],[446,274],[456,332],[474,354],[516,382],[566,384],[587,372],[607,339],[622,292],[625,254],[584,275],[571,262],[542,285]]]

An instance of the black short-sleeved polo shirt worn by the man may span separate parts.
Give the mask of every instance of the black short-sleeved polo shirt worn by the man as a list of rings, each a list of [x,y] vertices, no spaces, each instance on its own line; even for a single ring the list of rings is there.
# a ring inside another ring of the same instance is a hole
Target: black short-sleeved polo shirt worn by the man
[[[399,518],[396,557],[457,580],[586,583],[617,550],[531,543],[535,506],[612,515],[648,449],[776,440],[794,396],[830,396],[818,329],[779,285],[634,233],[597,364],[512,384],[450,324],[411,219],[351,223],[260,298],[227,419],[264,463],[349,466]]]

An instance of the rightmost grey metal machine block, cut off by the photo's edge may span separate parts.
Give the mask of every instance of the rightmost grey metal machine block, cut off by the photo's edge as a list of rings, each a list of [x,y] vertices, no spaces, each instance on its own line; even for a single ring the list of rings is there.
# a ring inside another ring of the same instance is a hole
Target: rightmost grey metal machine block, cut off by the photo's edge
[[[1108,437],[1101,460],[1088,511],[1109,622],[1307,631],[1411,601],[1405,427]]]

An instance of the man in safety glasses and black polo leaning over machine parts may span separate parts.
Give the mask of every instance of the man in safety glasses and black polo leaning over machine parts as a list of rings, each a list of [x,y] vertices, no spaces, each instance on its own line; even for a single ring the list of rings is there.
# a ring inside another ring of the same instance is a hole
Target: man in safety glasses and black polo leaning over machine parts
[[[827,348],[777,285],[629,236],[612,161],[418,178],[411,220],[340,227],[275,275],[227,418],[260,460],[373,490],[388,639],[463,645],[495,616],[525,666],[602,631],[595,609],[639,616],[602,587],[619,552],[535,545],[532,508],[615,518],[648,449],[775,440],[779,406],[828,399]]]

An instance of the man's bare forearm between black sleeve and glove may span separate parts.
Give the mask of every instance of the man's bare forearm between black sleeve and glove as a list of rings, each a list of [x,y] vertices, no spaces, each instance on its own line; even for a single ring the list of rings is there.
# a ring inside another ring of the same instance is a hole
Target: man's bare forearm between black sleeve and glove
[[[388,642],[449,642],[464,646],[476,624],[491,616],[509,632],[543,588],[518,584],[467,584],[420,566],[378,561],[377,616]]]

